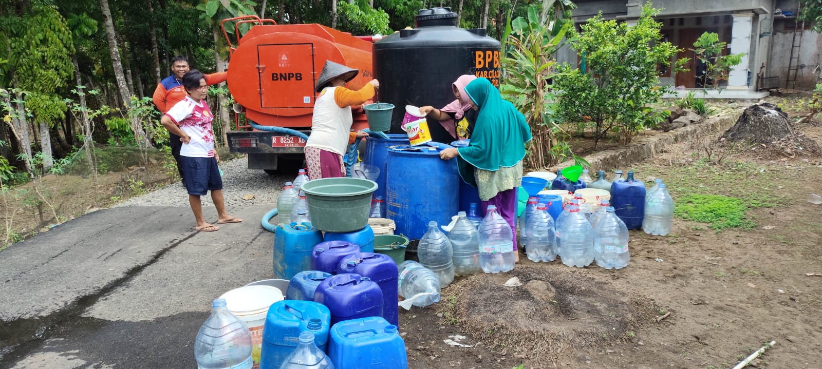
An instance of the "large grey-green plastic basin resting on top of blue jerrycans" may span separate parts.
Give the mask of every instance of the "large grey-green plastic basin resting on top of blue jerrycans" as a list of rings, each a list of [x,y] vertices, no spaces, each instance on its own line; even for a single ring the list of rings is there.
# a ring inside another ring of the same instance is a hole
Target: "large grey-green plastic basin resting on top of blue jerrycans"
[[[320,178],[302,185],[314,228],[353,232],[368,225],[376,182],[363,178]]]

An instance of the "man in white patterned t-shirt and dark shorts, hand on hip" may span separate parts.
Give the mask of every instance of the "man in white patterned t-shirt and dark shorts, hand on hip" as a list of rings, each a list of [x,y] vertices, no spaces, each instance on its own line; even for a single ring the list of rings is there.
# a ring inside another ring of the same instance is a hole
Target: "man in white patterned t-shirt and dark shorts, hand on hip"
[[[188,96],[174,104],[160,118],[160,122],[169,132],[180,136],[183,144],[180,149],[180,164],[188,191],[188,204],[192,206],[196,219],[195,229],[213,232],[219,227],[205,222],[201,204],[201,196],[208,191],[211,191],[211,201],[214,201],[219,215],[217,223],[239,223],[242,219],[229,215],[225,210],[223,179],[220,178],[217,168],[219,155],[214,150],[214,130],[211,125],[214,114],[205,103],[205,95],[208,92],[205,76],[200,71],[192,69],[182,76],[182,85]]]

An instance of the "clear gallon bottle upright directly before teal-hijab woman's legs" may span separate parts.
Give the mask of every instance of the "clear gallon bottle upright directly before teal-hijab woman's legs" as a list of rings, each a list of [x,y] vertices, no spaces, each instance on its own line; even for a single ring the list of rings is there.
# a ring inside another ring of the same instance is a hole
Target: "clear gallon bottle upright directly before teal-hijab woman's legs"
[[[514,269],[514,233],[495,205],[488,205],[485,218],[479,224],[479,267],[486,273]]]

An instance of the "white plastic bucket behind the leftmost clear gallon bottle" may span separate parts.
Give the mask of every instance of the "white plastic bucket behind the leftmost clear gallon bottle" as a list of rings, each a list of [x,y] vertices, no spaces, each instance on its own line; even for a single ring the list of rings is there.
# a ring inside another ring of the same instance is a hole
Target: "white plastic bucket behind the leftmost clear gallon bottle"
[[[254,368],[259,368],[262,327],[266,324],[268,308],[271,304],[283,300],[283,293],[276,287],[256,285],[234,288],[219,298],[224,298],[229,311],[248,326],[252,334]]]

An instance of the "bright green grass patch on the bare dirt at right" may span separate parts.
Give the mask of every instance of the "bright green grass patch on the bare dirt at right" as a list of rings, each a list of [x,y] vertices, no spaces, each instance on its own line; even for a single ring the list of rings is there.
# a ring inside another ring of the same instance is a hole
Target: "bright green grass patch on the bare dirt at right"
[[[753,229],[756,224],[746,219],[750,209],[770,206],[760,201],[743,201],[736,197],[718,195],[684,195],[677,199],[674,214],[681,219],[710,224],[711,229]]]

